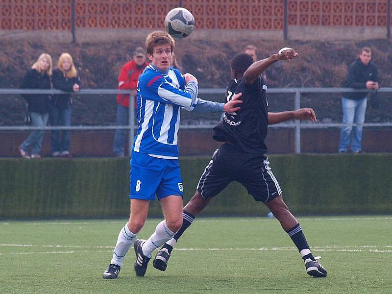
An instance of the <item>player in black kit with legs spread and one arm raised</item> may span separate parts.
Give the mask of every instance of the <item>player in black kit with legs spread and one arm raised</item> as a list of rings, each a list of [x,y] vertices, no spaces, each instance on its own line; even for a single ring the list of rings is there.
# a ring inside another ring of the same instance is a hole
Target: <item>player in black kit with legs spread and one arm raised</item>
[[[238,181],[256,201],[262,201],[280,221],[283,229],[293,240],[305,262],[310,276],[325,277],[327,271],[313,256],[302,228],[291,214],[282,198],[282,190],[269,166],[265,155],[267,147],[264,139],[268,124],[290,119],[311,120],[316,115],[311,108],[296,111],[268,112],[267,86],[261,73],[279,60],[292,60],[298,54],[291,48],[283,48],[269,58],[253,63],[245,53],[236,54],[231,61],[234,79],[227,88],[227,100],[242,93],[242,107],[235,113],[225,113],[222,121],[214,127],[214,139],[224,142],[215,151],[205,168],[196,188],[196,193],[183,211],[181,229],[157,252],[154,268],[166,270],[173,246],[183,232],[192,224],[196,215],[220,193],[230,182]]]

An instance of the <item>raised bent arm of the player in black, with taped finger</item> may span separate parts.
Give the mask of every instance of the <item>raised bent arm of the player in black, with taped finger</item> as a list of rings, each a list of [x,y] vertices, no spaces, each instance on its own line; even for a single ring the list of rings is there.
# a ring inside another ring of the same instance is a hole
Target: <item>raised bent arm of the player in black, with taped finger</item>
[[[253,84],[256,78],[263,73],[271,64],[279,60],[293,60],[298,53],[292,48],[282,48],[278,53],[272,54],[270,57],[256,61],[244,73],[246,84]]]

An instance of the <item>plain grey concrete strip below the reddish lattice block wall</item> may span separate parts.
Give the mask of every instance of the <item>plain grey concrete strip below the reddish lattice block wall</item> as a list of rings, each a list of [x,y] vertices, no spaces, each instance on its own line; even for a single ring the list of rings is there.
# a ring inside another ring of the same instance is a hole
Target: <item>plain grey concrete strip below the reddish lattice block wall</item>
[[[114,42],[118,40],[139,40],[144,42],[152,29],[103,29],[81,28],[76,29],[77,43]],[[73,41],[70,31],[20,31],[0,30],[3,40],[37,41],[45,43],[71,43]],[[384,39],[387,37],[386,27],[343,27],[343,26],[299,26],[290,25],[288,28],[289,40],[369,40]],[[192,33],[187,40],[216,40],[235,42],[235,40],[283,40],[282,30],[219,30],[199,29]]]

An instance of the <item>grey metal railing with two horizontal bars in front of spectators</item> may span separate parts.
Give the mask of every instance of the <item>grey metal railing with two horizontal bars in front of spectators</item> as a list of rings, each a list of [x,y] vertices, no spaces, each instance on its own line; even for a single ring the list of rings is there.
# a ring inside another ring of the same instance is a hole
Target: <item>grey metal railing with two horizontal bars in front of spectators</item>
[[[130,94],[131,91],[127,90],[117,90],[117,89],[82,89],[77,92],[77,95],[115,95],[115,94]],[[274,94],[282,94],[289,93],[295,94],[294,98],[294,109],[301,108],[301,94],[302,93],[353,93],[353,92],[369,92],[369,90],[354,90],[351,88],[269,88],[267,93]],[[380,88],[377,92],[379,93],[392,93],[392,87]],[[12,95],[21,95],[21,94],[64,94],[65,92],[61,90],[37,90],[37,89],[0,89],[0,95],[12,94]],[[199,94],[208,94],[208,95],[223,95],[226,93],[225,89],[199,89]],[[127,129],[129,130],[129,144],[131,145],[133,142],[133,138],[135,136],[135,129],[137,126],[135,125],[135,110],[133,107],[129,107],[129,124],[128,125],[97,125],[97,126],[89,126],[89,125],[78,125],[78,126],[0,126],[0,131],[6,130],[116,130],[116,129]],[[344,124],[344,123],[301,123],[298,120],[295,120],[294,123],[277,123],[272,124],[269,127],[273,128],[294,128],[294,146],[295,153],[301,153],[301,128],[325,128],[325,127],[342,127],[342,126],[357,126],[359,124]],[[392,126],[392,123],[364,123],[361,124],[364,127],[385,127]],[[189,124],[189,125],[180,125],[182,129],[200,129],[200,128],[208,128],[211,126],[200,125],[200,124]]]

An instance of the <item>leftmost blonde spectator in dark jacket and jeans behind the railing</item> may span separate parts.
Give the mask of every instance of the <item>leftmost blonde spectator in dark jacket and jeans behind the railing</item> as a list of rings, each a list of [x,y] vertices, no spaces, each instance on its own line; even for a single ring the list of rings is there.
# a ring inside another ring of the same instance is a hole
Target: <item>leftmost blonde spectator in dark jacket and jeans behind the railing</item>
[[[24,76],[22,89],[50,89],[50,77],[52,75],[53,63],[48,53],[42,53],[38,60],[32,65],[31,70]],[[48,94],[25,94],[27,108],[31,123],[34,126],[46,126],[49,119]],[[34,130],[19,147],[19,153],[24,158],[40,158],[44,130]],[[31,152],[30,152],[31,150]],[[31,154],[31,156],[30,156]]]

